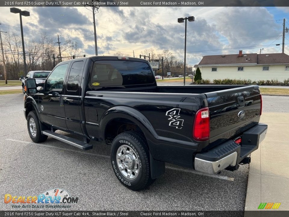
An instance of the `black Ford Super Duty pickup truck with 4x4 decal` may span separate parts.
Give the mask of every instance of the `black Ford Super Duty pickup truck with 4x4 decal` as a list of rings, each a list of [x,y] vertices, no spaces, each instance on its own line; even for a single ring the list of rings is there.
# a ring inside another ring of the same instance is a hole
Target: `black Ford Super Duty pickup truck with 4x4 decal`
[[[25,83],[31,140],[49,136],[83,150],[92,148],[90,140],[109,144],[113,171],[132,190],[148,187],[165,162],[209,174],[237,170],[267,132],[257,85],[157,86],[144,59],[73,59],[45,83]]]

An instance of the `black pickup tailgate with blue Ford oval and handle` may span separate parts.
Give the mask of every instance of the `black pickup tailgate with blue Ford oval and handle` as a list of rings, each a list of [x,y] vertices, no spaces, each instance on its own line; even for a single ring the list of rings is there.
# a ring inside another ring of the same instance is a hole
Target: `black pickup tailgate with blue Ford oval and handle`
[[[205,93],[210,111],[210,145],[236,138],[259,122],[261,95],[258,85]]]

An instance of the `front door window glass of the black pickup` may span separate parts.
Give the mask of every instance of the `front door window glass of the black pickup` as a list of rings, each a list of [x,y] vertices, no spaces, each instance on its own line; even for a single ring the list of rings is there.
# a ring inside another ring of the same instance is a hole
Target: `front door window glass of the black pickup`
[[[68,64],[62,64],[54,68],[46,81],[45,91],[63,88],[64,75]]]

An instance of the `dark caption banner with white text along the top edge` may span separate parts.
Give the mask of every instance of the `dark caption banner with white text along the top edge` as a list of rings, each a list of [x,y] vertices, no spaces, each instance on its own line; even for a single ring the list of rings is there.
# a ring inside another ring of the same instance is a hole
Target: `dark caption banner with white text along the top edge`
[[[286,7],[288,0],[1,0],[0,7]]]

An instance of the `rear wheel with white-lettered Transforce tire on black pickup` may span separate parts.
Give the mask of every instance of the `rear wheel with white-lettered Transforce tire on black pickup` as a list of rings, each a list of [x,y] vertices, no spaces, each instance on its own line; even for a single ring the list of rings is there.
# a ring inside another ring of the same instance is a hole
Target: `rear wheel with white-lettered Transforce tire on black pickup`
[[[154,181],[146,140],[137,131],[127,131],[114,138],[110,161],[117,179],[131,190],[145,189]]]

